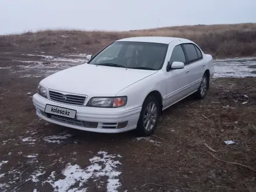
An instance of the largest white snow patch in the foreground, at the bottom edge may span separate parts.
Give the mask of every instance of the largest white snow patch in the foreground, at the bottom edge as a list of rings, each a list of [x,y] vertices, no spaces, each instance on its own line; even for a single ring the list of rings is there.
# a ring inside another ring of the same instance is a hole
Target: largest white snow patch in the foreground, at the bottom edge
[[[64,179],[56,180],[55,171],[51,173],[48,180],[43,183],[49,183],[54,188],[54,191],[86,191],[88,179],[93,179],[97,182],[101,177],[108,177],[106,183],[106,191],[116,192],[121,186],[118,176],[121,174],[118,169],[118,165],[121,165],[116,158],[120,155],[111,155],[105,151],[99,151],[98,154],[90,159],[91,165],[86,169],[82,169],[79,165],[71,165],[67,163],[66,168],[62,171]],[[74,188],[74,184],[79,184]],[[100,185],[98,183],[98,185]]]

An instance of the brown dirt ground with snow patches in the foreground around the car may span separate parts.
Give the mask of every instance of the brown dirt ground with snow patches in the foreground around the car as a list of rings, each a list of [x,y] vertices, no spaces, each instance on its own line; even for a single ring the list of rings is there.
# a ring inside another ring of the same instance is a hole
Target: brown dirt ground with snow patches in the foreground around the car
[[[201,101],[166,109],[149,138],[39,119],[41,79],[0,70],[0,191],[256,191],[255,77],[214,79]]]

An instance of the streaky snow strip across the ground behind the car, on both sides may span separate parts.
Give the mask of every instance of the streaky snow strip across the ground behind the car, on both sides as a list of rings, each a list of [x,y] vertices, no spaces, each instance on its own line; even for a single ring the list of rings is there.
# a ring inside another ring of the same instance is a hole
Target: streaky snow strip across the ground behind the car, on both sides
[[[26,66],[20,67],[20,70],[13,70],[10,74],[19,74],[20,77],[45,77],[59,70],[67,69],[72,66],[86,63],[87,54],[65,54],[62,56],[50,56],[41,52],[40,55],[35,54],[22,54],[33,56],[33,59],[38,58],[38,61],[17,61],[26,63]],[[49,54],[49,53],[48,53]],[[48,61],[45,63],[45,61]],[[256,57],[252,58],[227,58],[214,60],[214,79],[219,77],[256,77],[256,69],[251,67],[256,65]],[[11,66],[13,67],[13,66]],[[9,69],[10,67],[0,67],[0,69]],[[10,69],[12,70],[12,69]]]

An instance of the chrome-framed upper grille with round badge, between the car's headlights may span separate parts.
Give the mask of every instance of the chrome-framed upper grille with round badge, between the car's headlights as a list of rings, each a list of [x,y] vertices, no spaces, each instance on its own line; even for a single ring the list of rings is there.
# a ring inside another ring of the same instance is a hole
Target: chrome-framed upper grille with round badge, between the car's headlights
[[[83,105],[86,101],[86,96],[62,94],[56,91],[49,91],[49,97],[53,101],[63,102],[70,105]]]

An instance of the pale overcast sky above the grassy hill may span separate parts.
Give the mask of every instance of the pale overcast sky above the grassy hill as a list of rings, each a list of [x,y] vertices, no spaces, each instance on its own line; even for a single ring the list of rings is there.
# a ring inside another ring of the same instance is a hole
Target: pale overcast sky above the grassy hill
[[[256,23],[256,0],[0,0],[0,34]]]

